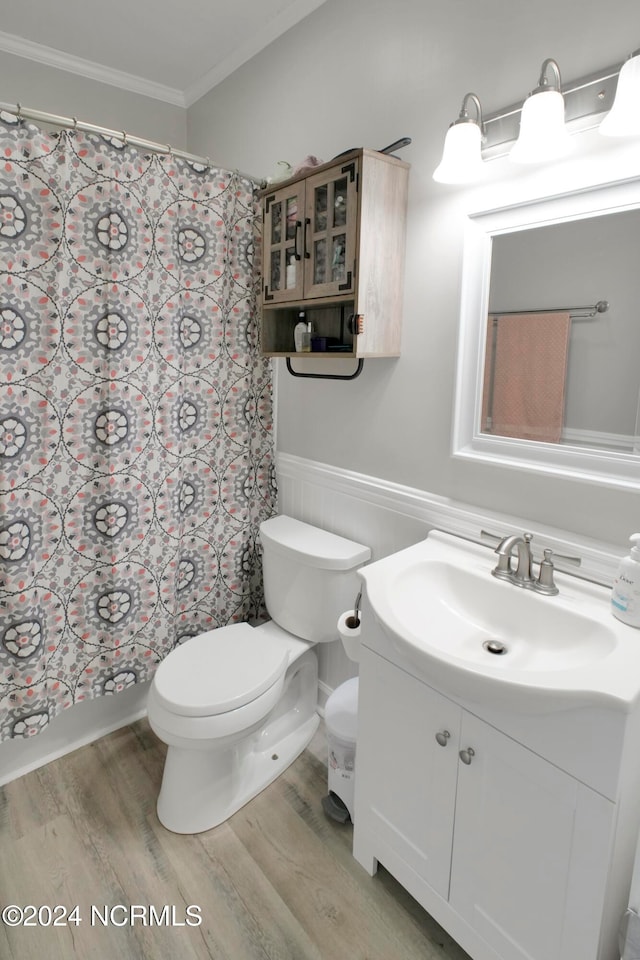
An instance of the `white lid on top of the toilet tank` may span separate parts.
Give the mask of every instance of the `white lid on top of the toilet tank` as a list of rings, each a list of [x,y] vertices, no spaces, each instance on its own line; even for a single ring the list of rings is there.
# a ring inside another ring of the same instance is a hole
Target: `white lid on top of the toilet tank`
[[[264,545],[299,563],[313,564],[323,570],[351,570],[371,558],[371,550],[364,544],[284,514],[260,524],[260,539]]]

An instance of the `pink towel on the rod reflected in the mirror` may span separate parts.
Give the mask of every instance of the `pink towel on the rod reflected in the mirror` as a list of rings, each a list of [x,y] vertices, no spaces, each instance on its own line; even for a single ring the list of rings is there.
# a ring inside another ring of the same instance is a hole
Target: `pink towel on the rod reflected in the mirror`
[[[486,433],[560,441],[570,330],[568,313],[520,313],[490,322],[482,416]]]

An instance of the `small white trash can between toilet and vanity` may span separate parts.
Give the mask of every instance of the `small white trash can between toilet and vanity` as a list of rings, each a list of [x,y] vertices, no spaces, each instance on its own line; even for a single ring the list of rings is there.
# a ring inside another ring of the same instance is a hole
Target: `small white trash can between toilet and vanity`
[[[322,801],[327,816],[341,823],[353,822],[356,736],[358,729],[358,678],[347,680],[333,691],[325,706],[329,748],[329,795]]]

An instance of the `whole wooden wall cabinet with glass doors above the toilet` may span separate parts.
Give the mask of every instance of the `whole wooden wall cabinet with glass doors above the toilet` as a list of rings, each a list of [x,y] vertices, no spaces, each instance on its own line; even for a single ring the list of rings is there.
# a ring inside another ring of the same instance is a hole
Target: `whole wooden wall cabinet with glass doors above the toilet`
[[[262,192],[262,351],[295,352],[299,313],[314,357],[400,353],[409,166],[353,150]]]

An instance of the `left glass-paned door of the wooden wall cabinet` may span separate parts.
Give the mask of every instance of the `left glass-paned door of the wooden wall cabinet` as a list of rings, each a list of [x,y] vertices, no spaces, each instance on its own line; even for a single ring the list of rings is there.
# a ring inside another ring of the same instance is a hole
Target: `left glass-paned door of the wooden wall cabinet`
[[[299,300],[303,289],[304,184],[283,187],[264,201],[264,299]]]

